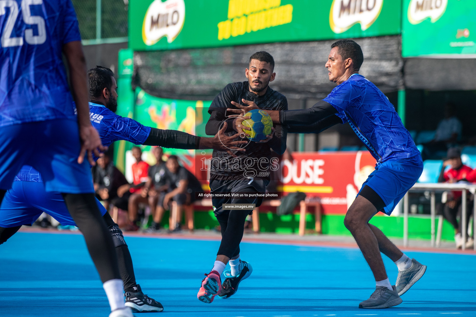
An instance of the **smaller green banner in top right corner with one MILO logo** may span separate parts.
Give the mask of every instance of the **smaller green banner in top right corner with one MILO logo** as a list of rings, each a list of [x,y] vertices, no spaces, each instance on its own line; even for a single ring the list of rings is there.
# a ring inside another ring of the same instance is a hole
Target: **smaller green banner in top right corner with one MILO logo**
[[[475,0],[404,0],[403,57],[475,57]]]

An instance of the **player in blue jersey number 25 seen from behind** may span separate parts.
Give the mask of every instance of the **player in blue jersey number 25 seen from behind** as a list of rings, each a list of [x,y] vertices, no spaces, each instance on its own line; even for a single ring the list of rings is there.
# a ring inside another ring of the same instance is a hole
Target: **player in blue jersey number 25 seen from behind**
[[[46,191],[61,193],[84,235],[109,299],[109,316],[130,317],[114,244],[84,160],[86,154],[94,164],[92,153],[106,148],[89,121],[86,63],[73,5],[70,0],[2,0],[0,38],[0,200],[23,165],[40,171]],[[0,240],[14,232],[0,228]]]

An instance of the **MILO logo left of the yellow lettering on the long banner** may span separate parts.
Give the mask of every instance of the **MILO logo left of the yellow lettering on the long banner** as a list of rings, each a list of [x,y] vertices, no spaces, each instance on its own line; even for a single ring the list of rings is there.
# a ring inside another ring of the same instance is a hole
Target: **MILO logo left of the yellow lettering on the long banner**
[[[154,45],[163,37],[172,43],[185,22],[184,0],[155,0],[147,9],[142,23],[142,39],[146,45]]]

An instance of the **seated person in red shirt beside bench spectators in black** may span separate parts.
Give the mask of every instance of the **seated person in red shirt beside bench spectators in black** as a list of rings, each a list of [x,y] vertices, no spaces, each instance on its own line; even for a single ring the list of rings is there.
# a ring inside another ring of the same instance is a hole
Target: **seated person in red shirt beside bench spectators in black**
[[[142,161],[142,150],[138,146],[132,147],[132,156],[136,159],[136,163],[132,164],[133,183],[125,184],[118,189],[118,198],[111,201],[111,203],[119,209],[129,212],[129,221],[132,225],[129,230],[138,230],[139,227],[135,223],[137,220],[137,206],[138,201],[144,201],[140,194],[142,187],[148,181],[149,164]],[[147,203],[147,198],[145,199]]]

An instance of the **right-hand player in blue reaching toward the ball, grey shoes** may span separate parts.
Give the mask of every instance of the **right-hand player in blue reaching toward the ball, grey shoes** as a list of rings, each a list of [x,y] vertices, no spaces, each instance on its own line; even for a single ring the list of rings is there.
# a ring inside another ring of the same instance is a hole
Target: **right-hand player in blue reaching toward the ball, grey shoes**
[[[372,296],[360,308],[387,308],[400,304],[404,294],[425,273],[426,266],[408,258],[376,226],[368,223],[378,212],[387,215],[420,177],[423,162],[407,129],[388,98],[358,74],[364,61],[362,49],[353,40],[331,45],[326,63],[329,80],[337,83],[331,93],[311,108],[268,111],[273,122],[288,126],[290,133],[319,133],[330,126],[348,123],[377,160],[375,170],[362,185],[347,211],[344,224],[352,233],[376,280]],[[235,106],[248,112],[258,108]],[[236,109],[228,111],[239,113]],[[388,280],[380,252],[395,262],[395,286]]]

